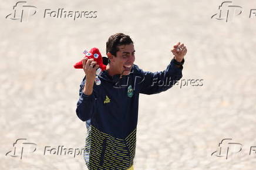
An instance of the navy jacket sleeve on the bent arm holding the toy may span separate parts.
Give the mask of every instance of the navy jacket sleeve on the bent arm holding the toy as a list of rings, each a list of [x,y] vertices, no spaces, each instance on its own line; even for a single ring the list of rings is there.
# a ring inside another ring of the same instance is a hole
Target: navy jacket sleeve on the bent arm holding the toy
[[[83,87],[85,87],[85,78],[83,78],[82,83],[80,84],[79,90],[79,100],[76,107],[76,115],[82,121],[89,120],[92,117],[93,112],[96,108],[96,96],[95,91],[89,96],[83,93]]]

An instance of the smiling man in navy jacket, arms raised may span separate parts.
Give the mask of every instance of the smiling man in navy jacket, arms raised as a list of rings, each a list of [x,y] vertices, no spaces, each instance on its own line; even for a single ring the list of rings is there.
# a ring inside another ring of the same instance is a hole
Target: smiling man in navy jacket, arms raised
[[[174,46],[174,58],[163,72],[139,69],[133,64],[134,52],[128,35],[110,36],[106,43],[108,63],[99,76],[99,86],[95,84],[99,65],[93,59],[83,59],[86,76],[80,84],[76,114],[86,121],[84,158],[89,169],[133,169],[139,93],[160,93],[182,77],[187,53],[184,44]]]

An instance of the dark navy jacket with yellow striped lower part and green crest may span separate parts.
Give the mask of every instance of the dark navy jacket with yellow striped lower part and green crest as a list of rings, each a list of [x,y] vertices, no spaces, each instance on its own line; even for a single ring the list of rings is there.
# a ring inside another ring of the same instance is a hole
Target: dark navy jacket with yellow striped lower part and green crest
[[[173,59],[174,60],[174,59]],[[84,152],[89,169],[128,169],[133,165],[139,94],[156,94],[170,89],[182,77],[182,69],[173,60],[163,72],[144,72],[133,65],[127,76],[109,76],[103,71],[90,96],[80,84],[76,114],[86,121]]]

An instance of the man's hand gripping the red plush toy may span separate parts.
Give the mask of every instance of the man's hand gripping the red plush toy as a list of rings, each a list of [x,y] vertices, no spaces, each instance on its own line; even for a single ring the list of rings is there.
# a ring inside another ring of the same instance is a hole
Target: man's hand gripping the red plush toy
[[[95,81],[96,70],[99,68],[99,64],[97,64],[93,59],[88,59],[87,57],[82,60],[82,63],[86,79],[91,82]]]

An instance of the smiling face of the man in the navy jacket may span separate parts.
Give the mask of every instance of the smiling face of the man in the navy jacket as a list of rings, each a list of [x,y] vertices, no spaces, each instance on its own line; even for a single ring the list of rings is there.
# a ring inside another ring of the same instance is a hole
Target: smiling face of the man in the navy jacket
[[[119,51],[116,52],[116,57],[112,55],[110,59],[112,68],[116,74],[129,75],[135,60],[133,43],[117,47]]]

